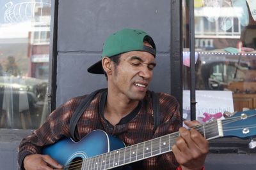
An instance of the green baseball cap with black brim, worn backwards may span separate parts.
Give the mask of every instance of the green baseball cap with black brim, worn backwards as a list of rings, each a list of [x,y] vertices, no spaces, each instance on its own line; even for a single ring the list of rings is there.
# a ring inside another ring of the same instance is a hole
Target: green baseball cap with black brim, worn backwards
[[[150,43],[153,48],[143,45],[144,41]],[[156,45],[147,32],[140,29],[122,29],[108,36],[103,45],[101,58],[113,57],[131,51],[148,52],[156,57]],[[90,66],[87,71],[94,74],[104,74],[101,60]]]

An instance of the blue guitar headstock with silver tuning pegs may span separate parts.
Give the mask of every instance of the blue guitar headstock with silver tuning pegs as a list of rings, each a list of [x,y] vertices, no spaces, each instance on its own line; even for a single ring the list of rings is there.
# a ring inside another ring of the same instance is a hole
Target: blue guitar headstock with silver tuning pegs
[[[222,121],[223,135],[238,138],[256,136],[256,110],[239,111]]]

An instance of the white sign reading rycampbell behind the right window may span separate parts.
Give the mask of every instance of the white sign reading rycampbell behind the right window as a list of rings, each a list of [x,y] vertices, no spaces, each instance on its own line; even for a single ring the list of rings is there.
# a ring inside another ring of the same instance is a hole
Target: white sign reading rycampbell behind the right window
[[[234,112],[232,91],[196,90],[196,120],[223,118],[224,111]],[[183,118],[190,120],[189,90],[183,90]]]

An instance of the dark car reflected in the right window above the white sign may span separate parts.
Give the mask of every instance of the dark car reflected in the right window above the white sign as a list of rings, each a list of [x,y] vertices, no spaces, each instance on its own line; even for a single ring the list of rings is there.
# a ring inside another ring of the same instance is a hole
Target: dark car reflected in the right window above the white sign
[[[231,81],[244,81],[250,69],[250,57],[245,54],[227,53],[223,50],[198,52],[198,79],[204,87],[200,90],[225,90]]]

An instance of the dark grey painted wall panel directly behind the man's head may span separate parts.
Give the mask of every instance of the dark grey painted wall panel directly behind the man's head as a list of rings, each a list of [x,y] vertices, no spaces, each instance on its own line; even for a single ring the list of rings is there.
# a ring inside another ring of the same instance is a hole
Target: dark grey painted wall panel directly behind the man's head
[[[150,89],[170,93],[170,5],[170,0],[61,0],[56,106],[106,87],[104,75],[86,69],[100,60],[106,37],[124,27],[143,29],[154,38],[157,67]]]

